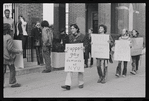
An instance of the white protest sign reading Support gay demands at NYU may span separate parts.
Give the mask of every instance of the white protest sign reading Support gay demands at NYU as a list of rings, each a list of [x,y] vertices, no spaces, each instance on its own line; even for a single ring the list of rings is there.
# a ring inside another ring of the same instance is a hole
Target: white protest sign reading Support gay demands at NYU
[[[83,43],[66,44],[65,72],[84,72]]]

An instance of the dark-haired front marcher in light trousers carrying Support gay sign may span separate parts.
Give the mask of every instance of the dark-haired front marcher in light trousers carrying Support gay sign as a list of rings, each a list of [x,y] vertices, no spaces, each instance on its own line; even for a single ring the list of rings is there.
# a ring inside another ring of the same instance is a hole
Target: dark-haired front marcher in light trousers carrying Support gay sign
[[[79,27],[76,24],[70,25],[72,34],[69,35],[69,43],[83,43],[84,42],[84,35],[80,33]],[[61,86],[66,90],[70,90],[71,86],[71,79],[72,79],[73,72],[67,72],[65,85]],[[83,81],[83,72],[78,72],[78,81],[79,81],[79,88],[83,88],[84,81]]]

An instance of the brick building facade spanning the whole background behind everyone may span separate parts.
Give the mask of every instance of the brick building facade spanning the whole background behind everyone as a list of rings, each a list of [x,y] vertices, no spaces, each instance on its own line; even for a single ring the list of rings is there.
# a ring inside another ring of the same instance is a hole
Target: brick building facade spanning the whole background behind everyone
[[[32,24],[43,20],[43,3],[12,3],[5,6],[5,8],[11,7],[15,22],[18,20],[18,15],[23,15],[28,22],[29,35]],[[112,36],[119,35],[123,28],[129,31],[136,29],[144,38],[144,43],[146,42],[145,3],[69,3],[67,9],[65,3],[55,3],[54,37],[59,37],[62,28],[68,29],[70,33],[69,26],[72,23],[76,23],[83,34],[86,34],[89,28],[93,28],[93,33],[98,33],[100,24],[105,24],[108,28],[107,33]]]

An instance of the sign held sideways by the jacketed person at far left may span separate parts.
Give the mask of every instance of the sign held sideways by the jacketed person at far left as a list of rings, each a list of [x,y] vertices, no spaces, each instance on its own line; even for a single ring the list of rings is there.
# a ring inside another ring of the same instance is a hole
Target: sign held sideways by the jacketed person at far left
[[[13,42],[14,42],[14,47],[16,49],[22,50],[22,41],[21,40],[13,40]],[[24,68],[23,54],[18,54],[16,56],[14,65],[15,65],[15,67]]]

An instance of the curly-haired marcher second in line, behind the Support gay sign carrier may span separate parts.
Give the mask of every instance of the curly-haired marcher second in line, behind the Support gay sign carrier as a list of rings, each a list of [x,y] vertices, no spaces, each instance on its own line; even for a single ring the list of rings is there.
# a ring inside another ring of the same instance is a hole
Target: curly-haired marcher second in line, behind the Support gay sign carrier
[[[107,27],[105,25],[99,25],[99,34],[106,34],[106,32],[107,32]],[[109,42],[110,48],[111,48],[113,46],[113,39],[111,36],[109,37],[109,39],[110,40],[108,42]],[[97,71],[98,71],[98,75],[99,75],[99,79],[98,79],[97,83],[106,83],[109,59],[103,59],[103,58],[96,58],[96,59],[97,59]],[[103,70],[102,70],[101,66],[103,66]]]

